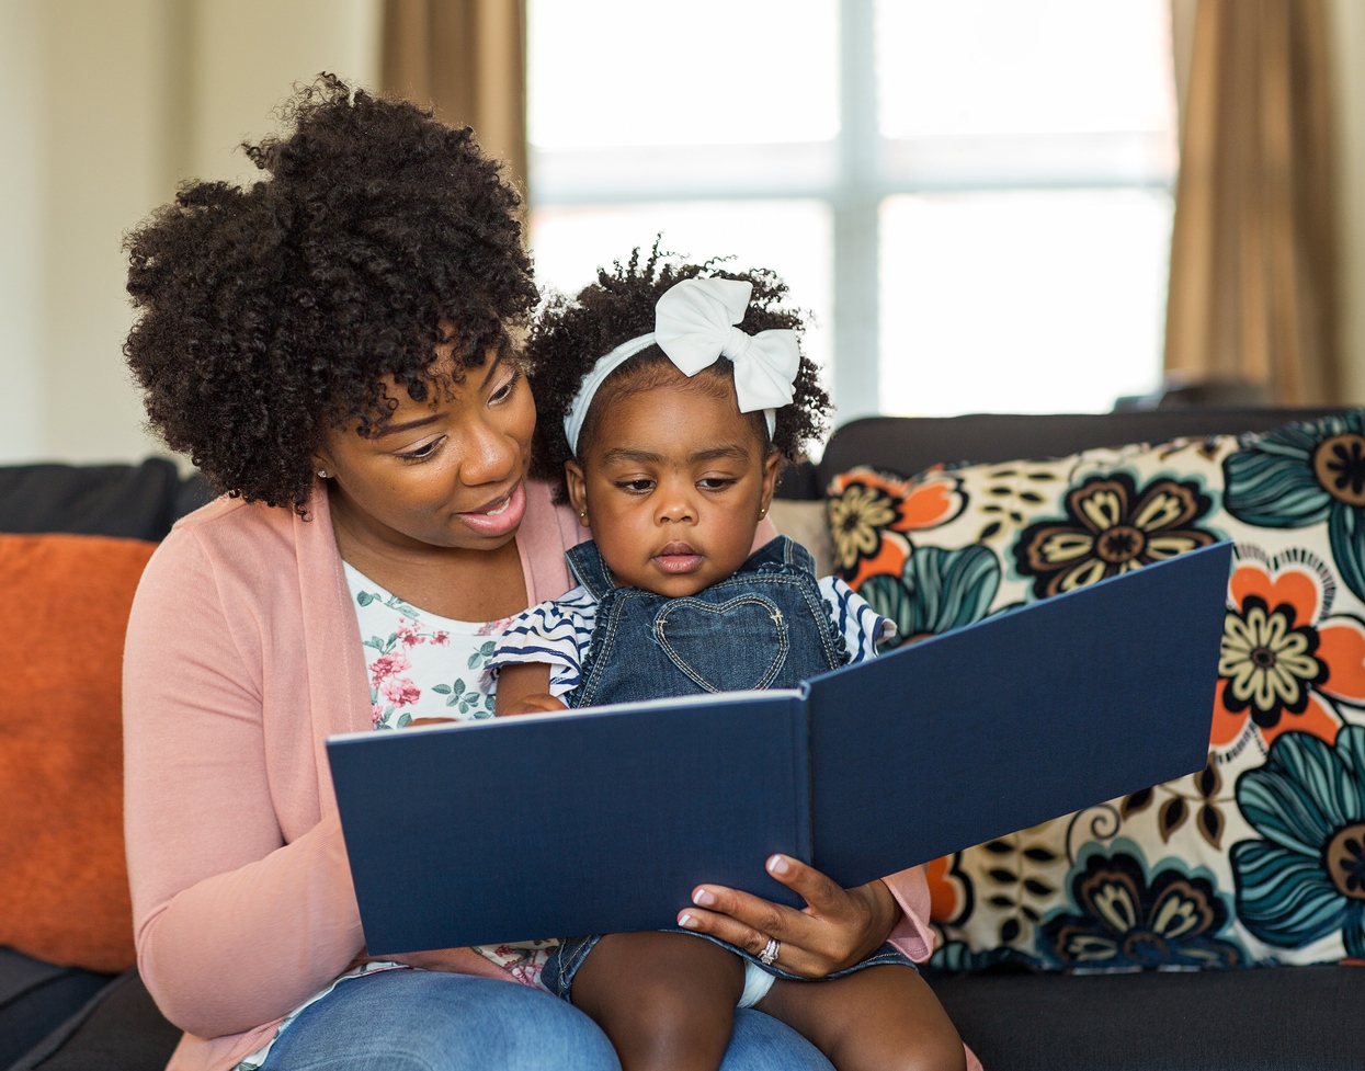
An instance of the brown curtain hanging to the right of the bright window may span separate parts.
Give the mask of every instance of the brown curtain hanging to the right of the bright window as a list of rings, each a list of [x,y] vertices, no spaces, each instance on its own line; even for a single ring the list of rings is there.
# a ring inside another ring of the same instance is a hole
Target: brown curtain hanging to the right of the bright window
[[[1336,398],[1336,211],[1323,0],[1198,0],[1166,370]]]

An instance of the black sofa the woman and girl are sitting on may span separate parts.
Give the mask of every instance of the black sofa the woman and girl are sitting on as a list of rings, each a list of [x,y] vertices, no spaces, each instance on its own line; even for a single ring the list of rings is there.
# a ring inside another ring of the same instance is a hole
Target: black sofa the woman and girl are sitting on
[[[829,562],[822,493],[857,465],[910,476],[942,463],[994,464],[1175,437],[1267,431],[1323,412],[1171,409],[857,420],[833,435],[818,464],[786,471],[773,517]],[[154,542],[206,498],[202,482],[183,479],[165,460],[136,467],[16,467],[0,469],[0,532]],[[1357,966],[1085,975],[1031,970],[1003,958],[971,973],[936,970],[927,977],[991,1071],[1365,1067],[1365,1027],[1351,1026],[1365,996],[1365,971]],[[153,1071],[164,1067],[177,1036],[135,969],[111,973],[0,950],[0,1068]]]

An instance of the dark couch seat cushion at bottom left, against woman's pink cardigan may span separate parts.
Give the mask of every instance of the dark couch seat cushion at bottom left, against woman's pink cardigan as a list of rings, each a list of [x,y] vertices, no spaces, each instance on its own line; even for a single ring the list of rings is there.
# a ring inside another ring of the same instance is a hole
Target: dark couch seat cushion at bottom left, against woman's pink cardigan
[[[68,1016],[10,1071],[162,1071],[180,1031],[126,971]]]

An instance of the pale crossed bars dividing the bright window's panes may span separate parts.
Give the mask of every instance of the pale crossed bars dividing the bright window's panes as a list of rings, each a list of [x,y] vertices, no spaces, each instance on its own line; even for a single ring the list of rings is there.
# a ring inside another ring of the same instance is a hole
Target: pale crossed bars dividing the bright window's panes
[[[839,132],[801,143],[545,150],[530,146],[531,209],[642,202],[820,201],[833,218],[830,392],[839,423],[879,413],[880,211],[887,196],[1016,190],[1174,195],[1160,132],[898,139],[879,130],[876,0],[838,5]]]

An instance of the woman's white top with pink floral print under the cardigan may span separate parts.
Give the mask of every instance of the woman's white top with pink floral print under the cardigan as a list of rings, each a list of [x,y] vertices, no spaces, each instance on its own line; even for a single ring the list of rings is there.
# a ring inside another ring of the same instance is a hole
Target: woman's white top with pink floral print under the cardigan
[[[355,604],[370,677],[370,707],[377,731],[403,729],[418,718],[453,718],[465,722],[493,716],[493,693],[480,685],[493,648],[512,618],[504,621],[452,621],[419,610],[343,562],[347,587]],[[541,970],[558,944],[554,940],[478,945],[475,951],[506,970],[523,985],[539,986]],[[251,1053],[235,1071],[257,1071],[276,1038],[304,1008],[337,985],[379,970],[411,970],[401,963],[364,963],[330,982],[292,1012],[274,1037]]]

